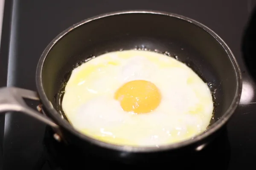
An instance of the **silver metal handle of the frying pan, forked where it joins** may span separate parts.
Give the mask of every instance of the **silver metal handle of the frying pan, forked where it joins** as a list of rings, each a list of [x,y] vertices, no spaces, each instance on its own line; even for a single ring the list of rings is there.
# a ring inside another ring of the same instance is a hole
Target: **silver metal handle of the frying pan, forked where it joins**
[[[15,87],[0,88],[0,113],[22,112],[44,122],[55,130],[59,129],[59,126],[51,119],[27,106],[24,99],[39,100],[39,97],[35,91]]]

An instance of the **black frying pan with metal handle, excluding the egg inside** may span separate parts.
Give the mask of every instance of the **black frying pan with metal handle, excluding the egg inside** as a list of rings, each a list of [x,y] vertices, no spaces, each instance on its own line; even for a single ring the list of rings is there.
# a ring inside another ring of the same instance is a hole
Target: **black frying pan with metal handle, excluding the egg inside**
[[[204,133],[157,147],[120,146],[92,139],[65,119],[61,91],[73,68],[92,56],[134,48],[175,57],[208,83],[214,98],[214,119]],[[35,80],[38,92],[1,88],[0,112],[26,113],[51,126],[56,140],[74,144],[84,153],[125,163],[156,161],[161,156],[203,149],[230,119],[239,104],[242,87],[236,59],[217,34],[195,20],[159,11],[103,14],[67,28],[44,50]],[[23,99],[40,100],[41,113],[29,108]]]

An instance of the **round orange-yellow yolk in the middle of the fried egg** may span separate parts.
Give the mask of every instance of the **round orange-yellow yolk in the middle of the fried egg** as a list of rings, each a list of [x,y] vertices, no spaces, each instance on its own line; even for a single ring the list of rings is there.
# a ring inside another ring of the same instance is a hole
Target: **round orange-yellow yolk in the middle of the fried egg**
[[[114,98],[120,102],[124,111],[148,113],[161,102],[161,94],[156,85],[145,80],[134,80],[122,85]]]

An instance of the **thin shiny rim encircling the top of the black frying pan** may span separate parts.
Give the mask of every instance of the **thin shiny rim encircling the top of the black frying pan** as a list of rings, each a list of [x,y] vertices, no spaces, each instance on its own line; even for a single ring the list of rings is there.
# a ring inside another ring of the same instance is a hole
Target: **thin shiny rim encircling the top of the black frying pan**
[[[224,48],[224,50],[227,53],[227,56],[229,57],[230,62],[232,63],[234,72],[236,74],[236,94],[233,98],[232,103],[230,104],[229,108],[227,111],[224,113],[223,116],[221,116],[220,119],[218,119],[213,125],[209,127],[209,129],[206,130],[206,132],[201,133],[197,136],[195,136],[193,139],[188,139],[183,142],[177,142],[174,144],[166,144],[166,145],[160,145],[159,147],[155,146],[123,146],[123,145],[116,145],[116,144],[110,144],[106,142],[99,141],[97,139],[93,139],[90,136],[84,135],[83,133],[80,133],[78,130],[76,130],[72,125],[70,125],[68,122],[64,121],[61,116],[59,116],[59,113],[53,108],[52,103],[49,101],[47,98],[44,88],[43,88],[43,82],[42,82],[42,71],[43,71],[43,66],[44,66],[44,61],[47,58],[47,55],[49,51],[52,49],[52,47],[55,45],[56,42],[61,40],[62,37],[64,37],[66,34],[68,34],[70,31],[73,29],[85,24],[89,23],[90,21],[105,18],[105,17],[111,17],[115,15],[121,15],[121,14],[156,14],[156,15],[164,15],[164,16],[169,16],[169,17],[175,17],[180,20],[184,20],[186,22],[189,22],[191,24],[194,24],[195,26],[198,26],[204,31],[207,31],[208,34],[210,34],[215,40]],[[163,11],[154,11],[154,10],[128,10],[128,11],[115,11],[115,12],[110,12],[106,14],[101,14],[95,17],[91,17],[89,19],[82,20],[79,23],[74,24],[73,26],[70,26],[69,28],[65,29],[62,31],[58,36],[56,36],[50,43],[47,45],[45,48],[44,52],[42,53],[37,70],[36,70],[36,86],[38,90],[38,95],[41,99],[42,104],[45,106],[47,111],[51,114],[51,116],[54,117],[56,120],[56,123],[60,125],[61,127],[69,130],[72,134],[76,135],[79,137],[81,140],[87,141],[91,144],[96,144],[100,147],[105,147],[108,149],[113,149],[113,150],[118,150],[122,152],[134,152],[134,153],[147,153],[147,152],[156,152],[156,151],[164,151],[164,150],[174,150],[178,149],[180,147],[185,147],[190,144],[195,144],[198,141],[201,141],[210,135],[212,135],[215,131],[219,130],[223,125],[226,124],[226,122],[230,119],[230,117],[233,115],[234,111],[236,110],[240,98],[241,98],[241,91],[242,91],[242,78],[241,78],[241,71],[239,68],[239,65],[236,61],[236,58],[234,57],[232,51],[228,47],[228,45],[219,37],[214,31],[212,31],[210,28],[207,26],[204,26],[203,24],[199,23],[198,21],[192,20],[188,17],[184,17],[179,14],[173,14],[169,12],[163,12]]]

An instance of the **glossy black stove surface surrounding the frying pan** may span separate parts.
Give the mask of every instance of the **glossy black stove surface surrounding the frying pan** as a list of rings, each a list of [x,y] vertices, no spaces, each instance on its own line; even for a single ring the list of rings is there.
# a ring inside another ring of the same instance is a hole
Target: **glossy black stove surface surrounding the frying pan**
[[[6,0],[0,86],[36,91],[35,70],[44,48],[65,28],[88,17],[129,9],[181,14],[208,26],[229,45],[242,71],[243,91],[241,104],[226,130],[205,149],[180,158],[180,169],[200,168],[200,162],[207,164],[205,168],[255,169],[256,85],[241,53],[241,38],[255,4],[256,0]],[[32,107],[37,104],[30,102]],[[0,170],[69,169],[79,159],[73,147],[56,142],[48,127],[26,115],[0,116]],[[79,161],[84,165],[119,165],[91,157]],[[172,164],[176,160],[170,161]]]

